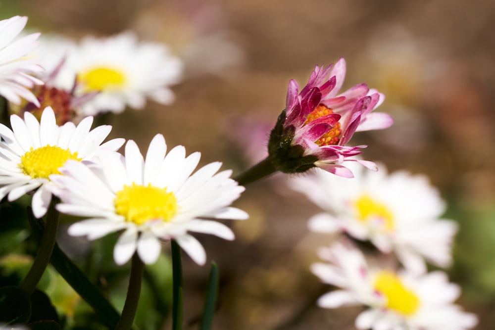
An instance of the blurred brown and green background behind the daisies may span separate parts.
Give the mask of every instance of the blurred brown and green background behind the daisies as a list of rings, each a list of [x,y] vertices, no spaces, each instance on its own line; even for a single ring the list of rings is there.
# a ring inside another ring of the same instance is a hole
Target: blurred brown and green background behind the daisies
[[[263,157],[268,130],[285,105],[288,81],[304,85],[315,64],[345,57],[344,88],[368,83],[387,95],[380,111],[395,118],[392,128],[356,134],[353,144],[370,145],[366,159],[391,170],[426,174],[441,190],[446,217],[460,226],[455,262],[448,270],[463,289],[459,304],[478,314],[477,329],[493,329],[494,1],[1,1],[0,18],[17,14],[29,16],[30,30],[47,34],[78,39],[134,30],[143,40],[168,44],[186,65],[183,82],[173,87],[175,103],[148,102],[142,111],[109,116],[112,135],[146,148],[162,133],[169,145],[201,151],[201,164],[221,160],[234,174]],[[251,218],[231,224],[235,241],[199,236],[221,274],[214,329],[354,329],[359,308],[315,305],[329,288],[309,272],[309,265],[328,237],[308,233],[306,221],[318,210],[289,191],[286,181],[275,175],[248,186],[236,206]],[[121,270],[111,266],[111,255],[108,261],[104,252],[95,252],[104,240],[89,246],[64,236],[63,228],[60,232],[68,253],[71,246],[91,251],[74,258],[103,290],[125,288],[125,274],[116,275]],[[160,322],[149,320],[162,320],[168,312],[170,263],[163,257],[159,264],[145,285],[143,294],[154,298],[143,300],[153,308],[142,307],[142,329],[155,329]],[[184,256],[184,268],[185,329],[196,329],[208,267]],[[58,291],[52,291],[56,299]],[[115,296],[118,305],[123,297]],[[81,312],[84,304],[77,296],[63,299],[68,299],[61,303],[67,315],[89,315]],[[150,310],[161,314],[153,316]],[[165,322],[163,329],[168,327]]]

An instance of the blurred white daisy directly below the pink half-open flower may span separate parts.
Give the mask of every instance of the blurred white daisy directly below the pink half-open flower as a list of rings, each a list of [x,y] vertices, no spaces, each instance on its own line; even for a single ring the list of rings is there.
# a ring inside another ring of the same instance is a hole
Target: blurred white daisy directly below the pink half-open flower
[[[378,172],[350,167],[354,179],[316,170],[291,182],[293,189],[325,210],[309,220],[309,228],[370,240],[383,253],[395,252],[406,268],[418,274],[426,272],[423,257],[448,266],[457,226],[439,219],[446,205],[427,178],[405,171],[387,175],[383,165]]]

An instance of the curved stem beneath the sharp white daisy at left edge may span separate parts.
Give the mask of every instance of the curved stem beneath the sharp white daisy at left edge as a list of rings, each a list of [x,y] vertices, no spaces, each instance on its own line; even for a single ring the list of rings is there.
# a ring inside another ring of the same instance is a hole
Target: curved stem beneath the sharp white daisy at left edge
[[[45,231],[43,232],[43,236],[41,237],[38,254],[36,254],[36,258],[34,259],[31,269],[20,284],[20,287],[29,295],[33,293],[36,285],[38,285],[38,283],[40,282],[43,273],[45,273],[45,269],[50,262],[53,247],[55,246],[55,240],[58,230],[58,219],[60,216],[60,213],[58,213],[58,211],[55,209],[55,204],[57,203],[57,201],[58,198],[56,197],[53,197],[51,199],[51,203],[47,212]]]

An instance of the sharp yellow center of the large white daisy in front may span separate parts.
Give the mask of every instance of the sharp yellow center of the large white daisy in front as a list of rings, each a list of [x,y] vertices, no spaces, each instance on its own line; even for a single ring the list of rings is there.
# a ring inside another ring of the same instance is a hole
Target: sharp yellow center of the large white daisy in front
[[[117,214],[123,215],[126,221],[143,225],[148,221],[161,220],[168,222],[177,213],[177,199],[173,192],[166,188],[136,185],[124,186],[116,193],[114,199]]]

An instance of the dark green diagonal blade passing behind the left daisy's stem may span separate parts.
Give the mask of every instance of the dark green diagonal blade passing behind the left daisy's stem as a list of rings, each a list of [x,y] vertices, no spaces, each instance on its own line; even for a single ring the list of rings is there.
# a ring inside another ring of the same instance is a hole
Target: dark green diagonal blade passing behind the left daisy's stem
[[[34,218],[30,207],[28,207],[28,219],[35,238],[40,241],[44,233],[44,226],[43,223]],[[114,329],[120,317],[119,313],[56,243],[53,247],[50,263],[77,294],[93,308],[105,325]]]

